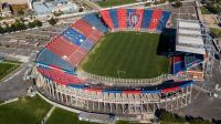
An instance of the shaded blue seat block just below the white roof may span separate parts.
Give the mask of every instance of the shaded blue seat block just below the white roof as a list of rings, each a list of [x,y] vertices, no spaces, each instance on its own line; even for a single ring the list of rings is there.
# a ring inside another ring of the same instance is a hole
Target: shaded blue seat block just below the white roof
[[[200,63],[203,61],[203,55],[202,54],[186,54],[185,55],[185,66],[190,68],[194,63]]]

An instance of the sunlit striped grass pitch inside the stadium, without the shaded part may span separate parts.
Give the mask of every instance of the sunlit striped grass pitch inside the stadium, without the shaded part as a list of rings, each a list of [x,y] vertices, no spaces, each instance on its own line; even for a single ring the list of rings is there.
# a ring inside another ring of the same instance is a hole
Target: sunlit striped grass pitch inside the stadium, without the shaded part
[[[123,79],[150,79],[169,73],[169,59],[157,55],[159,34],[107,33],[84,60],[86,72]]]

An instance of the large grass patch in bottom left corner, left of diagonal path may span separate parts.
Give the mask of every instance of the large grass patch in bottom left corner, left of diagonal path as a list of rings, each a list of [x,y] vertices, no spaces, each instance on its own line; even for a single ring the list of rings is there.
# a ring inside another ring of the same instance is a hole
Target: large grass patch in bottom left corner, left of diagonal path
[[[17,102],[0,105],[1,124],[40,124],[52,105],[40,96],[20,99]]]

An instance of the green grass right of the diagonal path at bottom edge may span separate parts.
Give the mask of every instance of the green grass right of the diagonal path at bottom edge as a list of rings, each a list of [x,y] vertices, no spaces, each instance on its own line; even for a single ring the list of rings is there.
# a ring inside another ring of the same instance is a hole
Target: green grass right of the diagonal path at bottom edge
[[[85,121],[80,121],[77,114],[62,110],[55,108],[46,124],[96,124]]]

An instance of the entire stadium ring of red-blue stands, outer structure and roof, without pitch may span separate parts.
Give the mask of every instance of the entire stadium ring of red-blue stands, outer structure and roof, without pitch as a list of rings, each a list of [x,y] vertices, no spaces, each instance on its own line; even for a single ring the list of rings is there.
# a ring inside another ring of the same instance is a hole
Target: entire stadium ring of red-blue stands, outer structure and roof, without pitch
[[[168,75],[127,81],[85,75],[77,70],[106,32],[161,33],[169,27],[170,14],[151,9],[110,9],[84,16],[40,51],[34,66],[38,91],[49,100],[83,112],[140,116],[139,120],[159,108],[172,111],[190,104],[192,84],[203,80],[208,66],[204,30],[199,21],[178,21]],[[186,34],[186,30],[190,33]],[[196,53],[192,49],[198,49],[198,44],[201,49]]]

